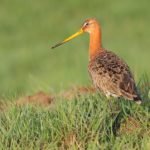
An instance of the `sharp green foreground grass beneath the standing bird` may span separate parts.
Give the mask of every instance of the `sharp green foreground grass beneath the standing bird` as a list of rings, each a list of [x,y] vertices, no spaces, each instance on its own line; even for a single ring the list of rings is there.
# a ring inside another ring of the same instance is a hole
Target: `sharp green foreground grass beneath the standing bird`
[[[112,100],[111,107],[97,94],[57,100],[50,108],[13,106],[1,114],[0,147],[148,150],[150,105]],[[127,121],[129,118],[135,121]]]

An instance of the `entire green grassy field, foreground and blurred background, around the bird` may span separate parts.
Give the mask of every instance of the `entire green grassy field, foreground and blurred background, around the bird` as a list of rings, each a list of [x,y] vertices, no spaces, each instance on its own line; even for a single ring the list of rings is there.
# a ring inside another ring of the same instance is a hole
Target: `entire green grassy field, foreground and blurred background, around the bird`
[[[147,149],[150,147],[150,1],[0,1],[0,149]],[[86,18],[101,22],[103,46],[122,57],[142,106],[102,95],[18,107],[19,97],[90,86],[87,34],[51,50]]]

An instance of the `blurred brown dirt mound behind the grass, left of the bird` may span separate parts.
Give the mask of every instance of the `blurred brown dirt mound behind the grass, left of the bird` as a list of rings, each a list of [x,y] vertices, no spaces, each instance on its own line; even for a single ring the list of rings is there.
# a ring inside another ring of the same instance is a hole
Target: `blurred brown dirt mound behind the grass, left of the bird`
[[[73,99],[75,96],[81,94],[94,93],[96,90],[93,87],[73,87],[58,95],[50,95],[45,92],[38,92],[31,96],[21,97],[17,100],[18,106],[25,104],[32,104],[35,106],[50,106],[57,98],[64,98],[67,100]]]

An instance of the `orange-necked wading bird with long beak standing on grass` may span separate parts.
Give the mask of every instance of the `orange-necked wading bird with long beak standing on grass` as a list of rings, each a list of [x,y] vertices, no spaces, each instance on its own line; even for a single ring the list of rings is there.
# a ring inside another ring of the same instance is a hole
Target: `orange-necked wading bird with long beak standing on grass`
[[[51,48],[54,49],[85,32],[90,36],[88,72],[95,88],[108,99],[123,97],[141,104],[141,95],[127,63],[114,52],[103,48],[102,30],[97,19],[86,19],[78,32]]]

